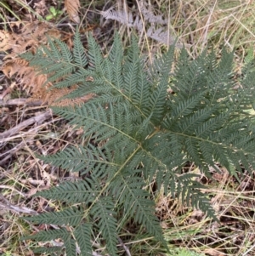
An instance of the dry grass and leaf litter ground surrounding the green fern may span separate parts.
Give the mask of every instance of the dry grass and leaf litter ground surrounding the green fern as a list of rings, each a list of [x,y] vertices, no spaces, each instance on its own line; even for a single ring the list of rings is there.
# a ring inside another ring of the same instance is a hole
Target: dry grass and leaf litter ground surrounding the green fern
[[[178,45],[189,48],[190,58],[195,58],[205,48],[226,45],[235,49],[238,70],[246,54],[253,51],[255,3],[252,1],[152,1],[150,5],[156,15],[167,20],[156,29],[171,31],[167,43],[178,37]],[[85,46],[85,35],[91,31],[106,51],[111,48],[117,29],[127,44],[132,30],[141,32],[139,44],[144,53],[151,56],[167,48],[167,43],[161,40],[162,34],[158,33],[156,40],[146,36],[145,31],[154,25],[144,24],[144,31],[139,31],[139,27],[127,28],[118,20],[105,20],[99,11],[111,6],[122,9],[121,3],[106,1],[81,1],[78,12],[64,5],[64,1],[9,0],[0,3],[1,37],[8,37],[4,40],[12,42],[0,53],[2,63],[14,60],[22,51],[37,48],[37,43],[47,43],[45,35],[48,32],[71,45],[77,21],[80,21],[79,31],[83,32]],[[125,7],[134,14],[137,3],[127,1]],[[43,29],[41,22],[47,24]],[[59,209],[61,205],[31,196],[61,180],[77,179],[68,171],[43,164],[35,154],[47,155],[78,143],[82,130],[54,116],[48,109],[48,96],[46,100],[37,97],[38,88],[31,87],[34,73],[26,71],[25,77],[19,77],[15,72],[15,66],[11,65],[0,77],[0,254],[32,255],[32,242],[21,242],[20,236],[27,231],[43,230],[45,226],[30,225],[19,217],[24,213]],[[27,77],[30,80],[26,81]],[[187,168],[196,171],[192,164]],[[205,255],[255,255],[254,175],[245,173],[239,183],[222,168],[221,174],[212,177],[214,179],[201,176],[201,183],[208,185],[206,192],[212,196],[220,223],[212,222],[200,211],[186,208],[171,197],[160,196],[156,214],[161,219],[164,236],[173,247],[189,248]],[[131,252],[132,255],[144,255],[149,248],[150,255],[161,255],[156,245],[151,248],[146,239],[137,236]]]

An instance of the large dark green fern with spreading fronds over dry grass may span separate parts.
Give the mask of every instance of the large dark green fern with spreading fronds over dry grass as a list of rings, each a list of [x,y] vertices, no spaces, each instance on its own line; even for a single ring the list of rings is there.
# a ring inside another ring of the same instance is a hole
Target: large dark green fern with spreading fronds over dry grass
[[[105,242],[113,256],[118,255],[123,227],[132,219],[167,247],[155,215],[156,190],[150,190],[151,183],[216,219],[201,192],[203,186],[183,167],[194,162],[206,175],[210,168],[225,167],[236,177],[255,167],[254,117],[248,111],[255,99],[255,73],[244,68],[237,77],[232,71],[233,53],[224,50],[220,60],[213,53],[190,60],[184,49],[177,60],[175,56],[171,47],[150,65],[134,37],[124,51],[117,34],[107,56],[91,36],[86,53],[78,33],[72,50],[49,39],[49,48],[22,56],[37,71],[50,75],[54,88],[76,84],[69,99],[94,95],[82,105],[53,108],[71,125],[83,128],[84,137],[93,143],[39,156],[84,178],[37,193],[70,207],[27,217],[59,229],[25,239],[60,237],[66,254],[72,256],[91,255],[96,236],[102,250]]]

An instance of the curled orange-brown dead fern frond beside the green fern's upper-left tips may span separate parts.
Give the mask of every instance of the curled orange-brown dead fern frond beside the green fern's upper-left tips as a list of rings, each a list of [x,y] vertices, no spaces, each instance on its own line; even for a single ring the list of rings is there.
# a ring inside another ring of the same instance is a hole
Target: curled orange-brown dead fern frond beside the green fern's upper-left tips
[[[88,94],[75,99],[65,99],[66,95],[77,88],[76,85],[70,88],[51,89],[53,84],[47,82],[47,75],[37,74],[35,68],[31,67],[26,60],[20,59],[19,54],[26,51],[34,54],[39,45],[47,45],[48,37],[61,39],[62,36],[60,31],[42,22],[26,23],[21,27],[20,33],[0,31],[0,37],[3,38],[0,41],[0,50],[11,50],[11,53],[4,58],[3,74],[8,78],[15,75],[21,87],[31,94],[31,101],[41,100],[42,104],[65,106],[81,104],[94,97]]]

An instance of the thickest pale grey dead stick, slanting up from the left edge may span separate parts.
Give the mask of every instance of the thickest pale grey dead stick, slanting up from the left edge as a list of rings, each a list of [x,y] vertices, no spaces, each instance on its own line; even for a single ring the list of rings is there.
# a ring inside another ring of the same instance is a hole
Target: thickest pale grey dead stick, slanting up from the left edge
[[[0,139],[3,139],[2,141],[0,140],[0,142],[4,142],[5,138],[8,138],[10,136],[13,136],[14,134],[20,133],[20,130],[30,126],[31,124],[42,123],[43,121],[47,120],[50,117],[52,117],[52,111],[48,110],[36,117],[31,117],[24,122],[20,122],[20,124],[16,125],[14,128],[10,128],[10,129],[8,129],[8,131],[0,134]]]

